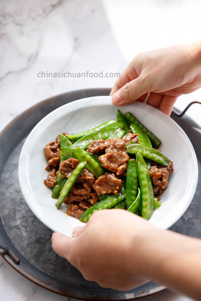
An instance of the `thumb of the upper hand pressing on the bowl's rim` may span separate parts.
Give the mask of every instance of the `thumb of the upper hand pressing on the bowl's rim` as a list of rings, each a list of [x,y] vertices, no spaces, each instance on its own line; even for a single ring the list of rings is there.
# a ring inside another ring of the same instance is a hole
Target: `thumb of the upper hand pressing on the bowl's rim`
[[[112,95],[112,102],[117,106],[126,105],[137,100],[143,94],[150,91],[148,81],[139,75],[139,77],[126,83],[122,88]]]

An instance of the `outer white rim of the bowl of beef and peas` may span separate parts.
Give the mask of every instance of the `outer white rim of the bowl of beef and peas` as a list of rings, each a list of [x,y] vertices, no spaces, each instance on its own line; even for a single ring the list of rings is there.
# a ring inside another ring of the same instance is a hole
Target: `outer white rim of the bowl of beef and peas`
[[[41,124],[44,123],[46,119],[50,118],[53,114],[58,113],[59,111],[62,111],[64,107],[69,107],[69,106],[72,106],[72,105],[77,105],[77,104],[82,103],[83,101],[87,101],[87,100],[90,101],[93,98],[98,98],[100,100],[105,98],[106,101],[110,101],[111,102],[111,96],[92,96],[92,97],[80,98],[78,100],[74,100],[72,102],[66,103],[66,104],[62,105],[61,107],[58,107],[57,109],[55,109],[52,112],[50,112],[49,114],[47,114],[44,118],[42,118],[36,124],[36,126],[32,129],[32,131],[27,136],[27,138],[26,138],[26,140],[24,142],[24,145],[23,145],[23,147],[21,149],[21,153],[20,153],[20,156],[19,156],[19,163],[18,163],[18,178],[19,178],[20,189],[22,191],[22,194],[24,196],[24,199],[25,199],[26,203],[28,204],[28,206],[32,210],[32,212],[36,215],[36,217],[38,219],[40,219],[40,221],[43,224],[45,224],[48,228],[50,228],[54,232],[60,232],[61,233],[61,231],[58,230],[57,227],[55,227],[54,225],[50,224],[45,219],[45,217],[42,214],[40,214],[40,212],[38,210],[35,209],[36,207],[33,206],[34,203],[31,201],[30,194],[29,194],[29,196],[27,196],[27,187],[26,187],[26,185],[24,185],[26,181],[24,181],[24,173],[23,173],[23,169],[22,169],[22,160],[23,160],[22,157],[24,155],[24,151],[26,150],[26,144],[28,143],[28,139],[30,139],[30,136],[32,135],[32,132],[36,131],[36,129],[38,127],[40,127]],[[102,103],[99,103],[99,102],[96,101],[96,102],[94,102],[94,106],[96,106],[96,105],[97,106],[98,105],[102,105]],[[111,105],[112,105],[112,102],[111,102]],[[156,109],[156,108],[154,108],[154,107],[152,107],[152,106],[150,106],[150,105],[148,105],[146,103],[135,102],[135,105],[137,107],[149,106],[149,110],[150,111],[154,111],[154,113],[156,115],[158,115],[160,117],[162,116],[163,119],[166,119],[166,120],[171,119],[171,122],[174,123],[174,125],[183,133],[183,135],[187,139],[189,147],[190,147],[190,151],[191,151],[191,154],[192,154],[193,161],[191,163],[193,164],[193,166],[194,166],[195,169],[194,169],[194,178],[193,178],[193,183],[192,183],[191,191],[189,192],[189,196],[188,196],[188,201],[186,201],[185,203],[182,204],[182,207],[180,208],[181,209],[180,211],[178,211],[178,212],[174,211],[173,212],[173,215],[169,219],[169,223],[166,222],[166,223],[163,224],[162,227],[160,227],[160,229],[168,229],[173,224],[175,224],[178,219],[181,218],[181,216],[185,213],[185,211],[187,210],[187,208],[189,207],[189,205],[190,205],[190,203],[191,203],[191,201],[193,199],[193,196],[195,194],[195,190],[196,190],[196,187],[197,187],[197,182],[198,182],[198,162],[197,162],[197,157],[196,157],[195,150],[193,148],[193,145],[192,145],[190,139],[188,138],[188,136],[186,135],[186,133],[184,132],[184,130],[171,117],[169,117],[165,113],[161,112],[160,110],[158,110],[158,109]],[[123,107],[126,107],[126,106],[123,106]],[[28,184],[30,185],[29,181],[28,181]],[[32,198],[32,200],[33,200],[33,198]],[[84,226],[84,224],[83,224],[83,226]]]

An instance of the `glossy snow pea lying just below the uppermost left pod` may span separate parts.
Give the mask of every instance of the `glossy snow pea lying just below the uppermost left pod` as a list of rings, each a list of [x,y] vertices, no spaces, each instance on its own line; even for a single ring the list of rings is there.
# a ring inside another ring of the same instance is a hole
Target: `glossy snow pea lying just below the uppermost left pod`
[[[104,128],[100,131],[92,132],[83,136],[74,144],[72,144],[71,148],[80,147],[82,149],[87,149],[91,142],[94,140],[106,140],[111,137],[122,137],[124,135],[124,132],[125,131],[123,131],[122,129],[118,129],[117,131],[117,128]]]

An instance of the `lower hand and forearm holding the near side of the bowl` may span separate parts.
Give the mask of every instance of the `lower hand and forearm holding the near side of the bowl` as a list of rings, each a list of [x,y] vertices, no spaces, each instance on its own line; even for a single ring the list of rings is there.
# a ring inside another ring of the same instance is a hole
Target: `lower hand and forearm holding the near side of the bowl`
[[[126,291],[151,279],[200,300],[200,239],[160,230],[126,210],[95,212],[73,238],[53,233],[52,248],[103,287]]]

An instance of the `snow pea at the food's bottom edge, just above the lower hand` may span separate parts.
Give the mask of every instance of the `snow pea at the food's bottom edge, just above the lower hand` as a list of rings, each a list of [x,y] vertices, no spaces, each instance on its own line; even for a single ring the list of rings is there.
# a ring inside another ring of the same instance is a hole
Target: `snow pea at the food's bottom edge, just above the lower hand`
[[[109,197],[103,199],[102,201],[92,205],[83,214],[80,216],[79,220],[81,222],[87,223],[90,216],[99,210],[102,209],[111,209],[114,208],[118,203],[120,203],[126,196],[126,187],[125,182],[122,182],[122,188],[118,195],[112,194]]]

